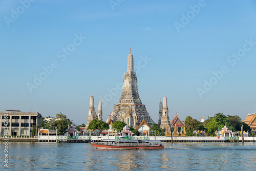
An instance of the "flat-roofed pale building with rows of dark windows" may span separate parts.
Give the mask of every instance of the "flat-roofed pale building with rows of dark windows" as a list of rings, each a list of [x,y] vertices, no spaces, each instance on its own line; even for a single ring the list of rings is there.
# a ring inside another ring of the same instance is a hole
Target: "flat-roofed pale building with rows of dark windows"
[[[36,124],[40,125],[40,118],[42,116],[38,112],[5,111],[0,112],[0,119],[2,120],[2,124],[0,124],[1,135],[30,136],[31,127]],[[5,131],[5,127],[7,127],[8,132]]]

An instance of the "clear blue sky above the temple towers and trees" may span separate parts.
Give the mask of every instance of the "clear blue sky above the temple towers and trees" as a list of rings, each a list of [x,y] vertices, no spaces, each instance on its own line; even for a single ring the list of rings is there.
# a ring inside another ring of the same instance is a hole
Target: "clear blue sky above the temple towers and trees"
[[[81,124],[93,93],[106,120],[131,47],[155,122],[164,94],[170,119],[255,112],[255,1],[21,2],[0,2],[0,111],[38,105]]]

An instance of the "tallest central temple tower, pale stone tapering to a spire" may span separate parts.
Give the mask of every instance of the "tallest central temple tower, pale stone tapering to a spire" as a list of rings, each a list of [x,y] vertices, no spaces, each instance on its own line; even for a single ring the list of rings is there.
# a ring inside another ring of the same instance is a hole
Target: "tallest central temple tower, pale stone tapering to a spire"
[[[122,95],[118,104],[114,105],[109,119],[124,121],[127,126],[136,128],[144,118],[145,122],[151,126],[152,119],[148,116],[146,107],[141,103],[139,97],[137,76],[136,71],[134,71],[133,55],[131,52],[130,48],[130,54],[127,57],[127,71],[124,71]]]

